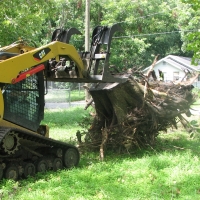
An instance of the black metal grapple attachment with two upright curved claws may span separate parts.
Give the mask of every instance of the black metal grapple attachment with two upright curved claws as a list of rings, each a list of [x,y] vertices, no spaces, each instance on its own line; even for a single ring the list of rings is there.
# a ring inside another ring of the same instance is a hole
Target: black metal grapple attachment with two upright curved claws
[[[121,78],[113,75],[109,69],[111,40],[117,31],[121,31],[119,24],[114,24],[111,27],[97,26],[93,30],[90,51],[79,53],[84,65],[84,69],[81,70],[81,76],[80,70],[78,71],[70,56],[61,56],[59,62],[55,59],[49,61],[47,79],[50,81],[79,83],[120,83],[126,81],[126,77]],[[69,30],[56,29],[53,32],[52,41],[69,43],[73,34],[80,34],[80,32],[75,28]]]

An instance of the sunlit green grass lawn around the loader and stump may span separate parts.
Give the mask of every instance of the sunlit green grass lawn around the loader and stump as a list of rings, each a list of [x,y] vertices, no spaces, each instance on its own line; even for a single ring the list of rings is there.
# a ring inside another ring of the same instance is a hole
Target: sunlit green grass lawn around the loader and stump
[[[80,130],[78,121],[86,116],[82,108],[46,110],[44,122],[50,135],[65,140]],[[70,134],[65,134],[65,129]],[[160,134],[155,147],[131,154],[98,152],[81,155],[71,170],[37,174],[27,180],[0,183],[0,199],[20,200],[171,200],[200,199],[200,141],[181,129]]]

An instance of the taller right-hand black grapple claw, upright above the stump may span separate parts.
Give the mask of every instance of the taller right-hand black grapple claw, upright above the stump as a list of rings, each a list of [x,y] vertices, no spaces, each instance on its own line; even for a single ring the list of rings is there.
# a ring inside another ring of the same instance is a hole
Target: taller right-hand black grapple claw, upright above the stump
[[[126,80],[111,75],[109,70],[111,41],[117,31],[122,31],[119,24],[111,27],[97,26],[93,30],[90,52],[81,54],[84,64],[87,65],[89,79],[97,82],[124,82]]]

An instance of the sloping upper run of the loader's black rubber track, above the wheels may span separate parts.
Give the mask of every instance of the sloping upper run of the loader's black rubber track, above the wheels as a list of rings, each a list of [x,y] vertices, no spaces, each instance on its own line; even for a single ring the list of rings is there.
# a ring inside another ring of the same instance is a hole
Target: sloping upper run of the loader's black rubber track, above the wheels
[[[19,138],[27,139],[29,141],[37,142],[40,144],[45,144],[45,145],[48,145],[49,147],[59,147],[62,149],[74,148],[78,151],[78,148],[76,148],[74,145],[71,145],[71,144],[68,144],[65,142],[61,142],[58,140],[54,140],[51,138],[47,138],[47,137],[41,136],[37,133],[34,134],[34,133],[25,132],[25,131],[22,131],[19,129],[6,128],[6,127],[0,127],[0,143],[2,142],[2,140],[6,136],[6,134],[10,131],[17,132]],[[79,157],[80,157],[80,155],[79,155]]]

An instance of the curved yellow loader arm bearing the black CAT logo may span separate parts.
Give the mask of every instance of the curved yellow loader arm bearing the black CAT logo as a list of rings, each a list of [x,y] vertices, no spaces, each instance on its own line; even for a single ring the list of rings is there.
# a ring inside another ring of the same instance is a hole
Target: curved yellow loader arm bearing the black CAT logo
[[[85,73],[84,65],[75,47],[70,44],[55,41],[40,48],[1,61],[0,71],[4,73],[0,73],[0,82],[13,83],[20,72],[34,68],[52,58],[59,61],[61,56],[67,56],[75,62],[78,69],[78,76],[79,78],[83,78]],[[27,74],[27,76],[29,76],[29,74]]]

